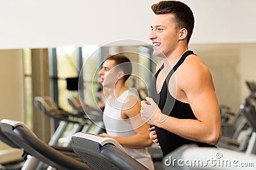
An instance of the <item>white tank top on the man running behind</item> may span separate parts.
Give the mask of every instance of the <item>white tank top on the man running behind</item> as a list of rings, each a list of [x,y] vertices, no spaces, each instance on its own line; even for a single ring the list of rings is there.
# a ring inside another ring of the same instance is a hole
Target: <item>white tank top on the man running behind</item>
[[[132,125],[128,122],[125,122],[121,117],[122,106],[128,96],[136,96],[136,94],[126,90],[118,97],[114,104],[109,104],[111,96],[109,96],[106,100],[103,113],[103,122],[106,128],[106,132],[110,136],[132,136],[136,134],[132,128]],[[148,167],[148,169],[154,169],[154,164],[147,148],[125,148],[125,150],[129,153],[129,155],[131,155],[131,157],[138,160],[138,162],[144,166]]]

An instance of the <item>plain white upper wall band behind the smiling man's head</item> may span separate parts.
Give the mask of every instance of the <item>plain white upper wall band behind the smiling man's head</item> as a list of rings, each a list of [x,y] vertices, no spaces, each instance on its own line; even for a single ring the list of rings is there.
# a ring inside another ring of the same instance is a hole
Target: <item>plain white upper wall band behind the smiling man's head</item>
[[[255,43],[254,0],[182,0],[195,14],[191,43]],[[156,0],[0,0],[0,49],[148,41]]]

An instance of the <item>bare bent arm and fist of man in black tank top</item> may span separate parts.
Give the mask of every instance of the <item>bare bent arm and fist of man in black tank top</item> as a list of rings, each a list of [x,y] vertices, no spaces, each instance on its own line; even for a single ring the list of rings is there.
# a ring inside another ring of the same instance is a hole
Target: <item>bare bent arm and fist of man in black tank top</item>
[[[179,81],[179,86],[185,92],[198,120],[166,117],[161,114],[161,110],[152,99],[148,99],[150,105],[141,102],[141,117],[148,124],[156,125],[183,138],[216,145],[221,137],[221,122],[211,73],[204,64],[198,64],[195,60],[187,62],[183,73],[184,77],[179,74],[184,80]]]

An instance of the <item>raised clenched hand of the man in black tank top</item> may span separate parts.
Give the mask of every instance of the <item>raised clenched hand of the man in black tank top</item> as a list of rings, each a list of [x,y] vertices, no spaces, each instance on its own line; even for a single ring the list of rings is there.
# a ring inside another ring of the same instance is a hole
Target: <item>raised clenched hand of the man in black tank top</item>
[[[141,101],[140,113],[143,122],[147,122],[150,125],[157,125],[159,122],[161,123],[161,115],[163,115],[161,110],[158,108],[157,104],[152,98],[146,97],[146,100],[147,101]]]

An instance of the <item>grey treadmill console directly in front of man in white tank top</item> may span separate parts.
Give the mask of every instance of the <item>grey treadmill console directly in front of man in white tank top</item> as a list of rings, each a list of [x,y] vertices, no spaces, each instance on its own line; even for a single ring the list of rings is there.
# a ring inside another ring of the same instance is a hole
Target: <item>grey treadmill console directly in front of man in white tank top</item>
[[[147,169],[133,159],[112,138],[77,132],[72,136],[73,150],[92,169]]]

